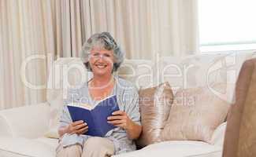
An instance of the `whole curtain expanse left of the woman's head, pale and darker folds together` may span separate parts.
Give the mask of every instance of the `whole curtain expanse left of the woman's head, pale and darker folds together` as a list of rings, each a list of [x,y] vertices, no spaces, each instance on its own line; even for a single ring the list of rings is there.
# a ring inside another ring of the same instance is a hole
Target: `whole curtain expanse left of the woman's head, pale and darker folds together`
[[[52,61],[77,57],[83,35],[91,30],[81,19],[88,2],[0,1],[0,109],[46,100]]]

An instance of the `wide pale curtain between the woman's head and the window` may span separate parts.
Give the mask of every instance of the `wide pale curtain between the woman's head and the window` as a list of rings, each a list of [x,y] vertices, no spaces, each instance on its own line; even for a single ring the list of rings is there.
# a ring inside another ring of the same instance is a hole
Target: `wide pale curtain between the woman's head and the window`
[[[91,0],[92,32],[109,31],[127,58],[198,53],[197,0]]]

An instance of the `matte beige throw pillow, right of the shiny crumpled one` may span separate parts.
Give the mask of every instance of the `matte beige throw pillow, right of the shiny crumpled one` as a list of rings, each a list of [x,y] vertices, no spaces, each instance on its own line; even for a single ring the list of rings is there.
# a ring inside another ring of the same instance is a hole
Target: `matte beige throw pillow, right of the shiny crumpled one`
[[[213,88],[180,89],[161,132],[161,141],[195,140],[210,143],[213,131],[228,114],[230,104],[216,92],[231,92],[225,89],[233,88],[218,84]]]

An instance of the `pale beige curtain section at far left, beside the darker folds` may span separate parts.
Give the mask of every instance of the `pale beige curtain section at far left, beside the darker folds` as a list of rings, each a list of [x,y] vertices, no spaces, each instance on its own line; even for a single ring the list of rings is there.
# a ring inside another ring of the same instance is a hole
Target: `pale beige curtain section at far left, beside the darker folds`
[[[45,100],[45,89],[24,86],[46,82],[46,53],[54,54],[50,1],[0,1],[0,108],[13,108]],[[35,59],[37,58],[37,59]],[[27,60],[26,73],[20,71]]]

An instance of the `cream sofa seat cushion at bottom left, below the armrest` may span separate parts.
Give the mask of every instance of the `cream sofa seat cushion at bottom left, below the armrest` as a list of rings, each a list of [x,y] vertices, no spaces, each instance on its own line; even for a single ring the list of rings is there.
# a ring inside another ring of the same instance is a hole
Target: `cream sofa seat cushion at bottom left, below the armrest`
[[[28,139],[0,137],[0,156],[5,157],[54,157],[58,140],[50,138]]]

